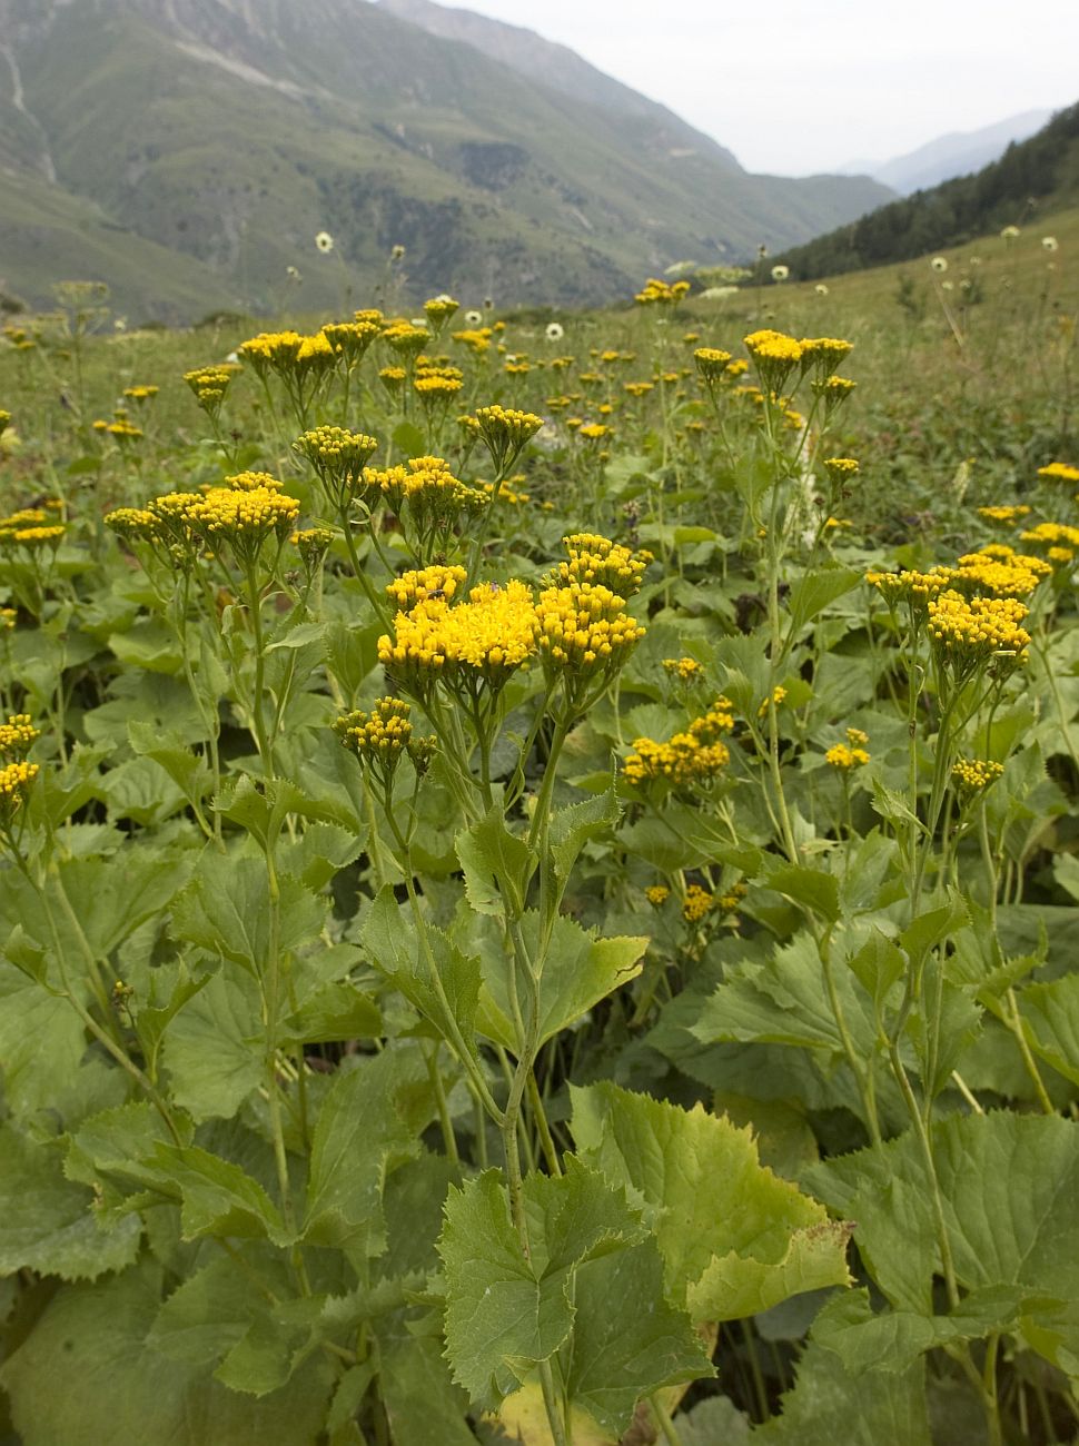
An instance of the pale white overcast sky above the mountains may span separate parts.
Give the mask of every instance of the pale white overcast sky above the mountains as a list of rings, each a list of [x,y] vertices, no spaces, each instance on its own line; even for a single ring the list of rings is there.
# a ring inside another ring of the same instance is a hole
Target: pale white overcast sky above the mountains
[[[675,110],[749,171],[888,161],[1079,100],[1079,0],[467,0]]]

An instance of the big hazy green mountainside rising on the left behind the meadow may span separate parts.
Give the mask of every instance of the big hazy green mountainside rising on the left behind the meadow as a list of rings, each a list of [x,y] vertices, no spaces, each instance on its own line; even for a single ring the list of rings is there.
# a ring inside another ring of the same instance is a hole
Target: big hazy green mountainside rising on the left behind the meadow
[[[607,301],[673,262],[775,250],[888,194],[748,175],[576,56],[587,84],[551,84],[570,52],[512,32],[511,64],[493,32],[485,48],[431,33],[435,9],[421,25],[366,0],[0,0],[1,179],[30,197],[0,208],[0,286],[39,302],[61,279],[68,252],[55,234],[42,247],[30,214],[42,187],[54,231],[71,215],[75,254],[94,240],[75,269],[104,275],[114,228],[119,304],[166,318],[221,298],[279,309],[288,268],[304,278],[289,305],[356,305],[395,244],[414,301]],[[133,281],[159,269],[156,296],[124,279],[136,243],[166,253],[133,263]]]

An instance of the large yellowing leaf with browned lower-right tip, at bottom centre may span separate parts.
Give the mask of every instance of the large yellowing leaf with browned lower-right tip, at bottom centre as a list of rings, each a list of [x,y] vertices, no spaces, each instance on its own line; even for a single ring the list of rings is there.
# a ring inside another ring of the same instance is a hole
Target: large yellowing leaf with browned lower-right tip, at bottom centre
[[[749,1129],[606,1083],[571,1096],[581,1155],[645,1203],[668,1296],[694,1320],[849,1281],[849,1228],[765,1170]]]

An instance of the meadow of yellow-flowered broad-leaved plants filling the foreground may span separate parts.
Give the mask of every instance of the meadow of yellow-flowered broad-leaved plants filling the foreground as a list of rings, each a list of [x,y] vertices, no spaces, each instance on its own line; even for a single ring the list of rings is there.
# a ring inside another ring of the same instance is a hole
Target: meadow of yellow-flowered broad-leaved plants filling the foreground
[[[1076,1440],[1076,230],[7,327],[4,1446]]]

